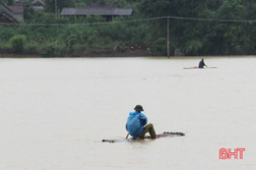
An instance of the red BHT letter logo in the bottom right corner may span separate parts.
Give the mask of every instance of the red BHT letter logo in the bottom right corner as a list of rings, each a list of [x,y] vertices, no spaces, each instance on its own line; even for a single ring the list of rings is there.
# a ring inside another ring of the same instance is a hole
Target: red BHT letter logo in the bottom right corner
[[[233,151],[231,148],[221,148],[220,149],[220,159],[243,159],[243,152],[245,148],[234,148]]]

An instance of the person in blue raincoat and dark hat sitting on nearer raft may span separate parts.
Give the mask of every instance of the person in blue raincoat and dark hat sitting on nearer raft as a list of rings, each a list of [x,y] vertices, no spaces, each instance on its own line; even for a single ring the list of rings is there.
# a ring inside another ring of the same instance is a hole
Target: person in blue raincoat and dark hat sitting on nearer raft
[[[153,124],[148,124],[147,117],[141,113],[144,111],[141,105],[136,105],[134,112],[130,112],[126,123],[126,130],[133,138],[144,139],[145,134],[150,133],[152,139],[156,139],[156,132]]]

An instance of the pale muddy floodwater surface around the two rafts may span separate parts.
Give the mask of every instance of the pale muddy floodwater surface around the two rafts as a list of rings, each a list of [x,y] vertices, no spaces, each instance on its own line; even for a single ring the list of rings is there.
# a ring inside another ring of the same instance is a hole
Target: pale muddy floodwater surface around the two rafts
[[[256,58],[0,59],[0,169],[256,168]],[[136,104],[158,134],[121,140]],[[245,148],[221,160],[221,148]]]

